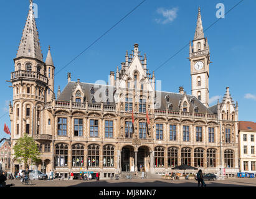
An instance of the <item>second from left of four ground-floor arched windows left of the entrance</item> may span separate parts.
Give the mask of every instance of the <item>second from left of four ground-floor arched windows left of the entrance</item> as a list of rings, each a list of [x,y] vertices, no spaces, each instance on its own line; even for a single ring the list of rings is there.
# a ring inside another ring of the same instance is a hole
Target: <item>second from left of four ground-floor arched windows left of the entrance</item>
[[[83,167],[85,148],[83,145],[75,144],[72,146],[72,166]]]

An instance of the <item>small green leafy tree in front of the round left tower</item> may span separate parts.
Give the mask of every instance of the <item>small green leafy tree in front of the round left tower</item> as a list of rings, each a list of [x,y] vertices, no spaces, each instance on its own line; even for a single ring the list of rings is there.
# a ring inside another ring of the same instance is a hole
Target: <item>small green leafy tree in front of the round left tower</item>
[[[37,144],[34,139],[27,136],[27,134],[17,140],[13,149],[14,157],[20,164],[24,162],[25,168],[28,165],[29,159],[31,159],[32,162],[36,162],[39,160],[40,152],[37,148]]]

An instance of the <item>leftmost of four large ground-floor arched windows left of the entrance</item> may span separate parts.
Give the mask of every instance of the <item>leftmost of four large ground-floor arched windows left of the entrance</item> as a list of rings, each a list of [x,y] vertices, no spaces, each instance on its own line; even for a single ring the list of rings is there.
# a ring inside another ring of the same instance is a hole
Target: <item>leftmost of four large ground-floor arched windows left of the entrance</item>
[[[68,151],[69,147],[67,144],[55,145],[55,167],[67,167]]]

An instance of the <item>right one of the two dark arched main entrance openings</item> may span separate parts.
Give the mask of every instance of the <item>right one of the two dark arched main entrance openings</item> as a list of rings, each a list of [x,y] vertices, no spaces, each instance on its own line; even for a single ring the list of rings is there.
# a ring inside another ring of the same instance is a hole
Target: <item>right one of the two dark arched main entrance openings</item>
[[[145,168],[145,172],[149,172],[150,152],[149,152],[149,148],[146,146],[141,146],[138,149],[137,167],[139,172],[143,171],[143,167]]]

